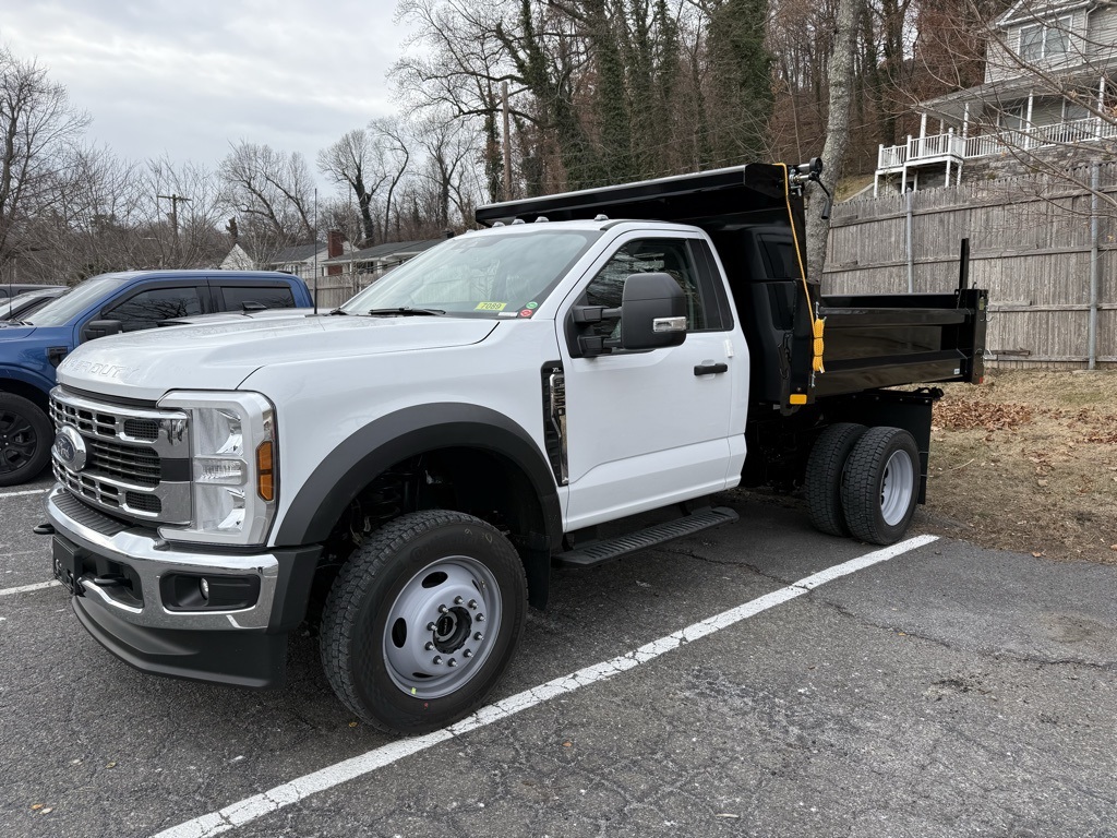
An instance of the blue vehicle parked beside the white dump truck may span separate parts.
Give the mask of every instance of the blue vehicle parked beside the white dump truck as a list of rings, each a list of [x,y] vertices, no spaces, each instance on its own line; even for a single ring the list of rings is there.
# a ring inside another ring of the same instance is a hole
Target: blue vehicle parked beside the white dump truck
[[[47,394],[78,344],[195,314],[312,305],[290,274],[132,270],[92,277],[26,320],[0,323],[0,486],[30,480],[50,459]]]

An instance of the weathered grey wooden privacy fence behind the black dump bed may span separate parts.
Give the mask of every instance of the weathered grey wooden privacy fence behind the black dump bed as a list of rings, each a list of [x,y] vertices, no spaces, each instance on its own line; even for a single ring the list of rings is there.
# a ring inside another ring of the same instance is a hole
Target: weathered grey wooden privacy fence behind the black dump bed
[[[830,225],[823,294],[952,291],[968,238],[990,360],[1117,364],[1117,163],[855,199]]]

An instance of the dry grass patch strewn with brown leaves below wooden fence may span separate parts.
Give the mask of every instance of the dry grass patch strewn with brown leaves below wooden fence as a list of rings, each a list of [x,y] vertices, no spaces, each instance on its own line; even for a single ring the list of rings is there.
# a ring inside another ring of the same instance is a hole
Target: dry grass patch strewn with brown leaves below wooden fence
[[[935,407],[925,531],[1117,563],[1117,371],[993,371]]]

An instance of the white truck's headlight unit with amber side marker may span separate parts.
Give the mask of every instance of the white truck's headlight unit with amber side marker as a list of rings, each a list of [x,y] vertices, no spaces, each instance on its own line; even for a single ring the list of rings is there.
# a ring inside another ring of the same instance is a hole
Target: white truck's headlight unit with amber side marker
[[[278,494],[275,408],[259,393],[175,391],[160,407],[190,413],[191,499],[187,527],[169,541],[262,544]]]

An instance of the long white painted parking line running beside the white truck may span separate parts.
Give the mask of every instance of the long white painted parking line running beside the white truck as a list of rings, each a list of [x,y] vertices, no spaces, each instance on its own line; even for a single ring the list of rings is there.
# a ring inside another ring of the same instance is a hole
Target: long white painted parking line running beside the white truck
[[[483,707],[471,716],[468,716],[449,727],[443,727],[440,731],[428,733],[426,736],[417,736],[414,739],[392,742],[383,747],[378,747],[374,751],[363,753],[360,756],[354,756],[350,760],[345,760],[344,762],[328,765],[319,771],[315,771],[314,773],[306,774],[281,785],[276,785],[274,789],[269,789],[260,794],[245,798],[244,800],[232,803],[231,806],[227,806],[220,811],[209,812],[208,815],[202,815],[201,817],[179,823],[170,829],[164,829],[153,838],[209,838],[209,836],[227,832],[230,829],[244,826],[251,820],[261,818],[265,815],[283,809],[292,803],[297,803],[311,794],[325,791],[326,789],[332,789],[341,783],[369,774],[376,769],[390,765],[393,762],[402,760],[404,756],[410,756],[411,754],[419,753],[420,751],[426,751],[427,749],[433,747],[435,745],[454,739],[455,736],[468,733],[469,731],[475,731],[478,727],[485,727],[494,722],[499,722],[500,720],[515,715],[521,711],[528,710],[537,704],[550,701],[555,696],[573,693],[582,687],[590,686],[591,684],[595,684],[600,680],[605,680],[614,675],[620,675],[621,673],[639,666],[640,664],[647,664],[649,660],[653,660],[665,653],[677,649],[685,644],[713,635],[715,631],[720,631],[722,629],[733,626],[736,622],[746,620],[750,617],[755,617],[770,608],[775,608],[776,606],[795,599],[796,597],[802,597],[804,593],[809,593],[813,589],[825,584],[827,582],[832,582],[841,577],[856,573],[859,570],[863,570],[879,562],[888,561],[897,555],[901,555],[903,553],[907,553],[911,550],[916,550],[917,547],[922,547],[925,544],[929,544],[937,537],[938,536],[936,535],[919,535],[915,539],[903,541],[899,544],[894,544],[890,547],[873,551],[860,556],[859,559],[852,559],[848,562],[843,562],[842,564],[836,564],[824,571],[800,579],[798,582],[794,582],[786,588],[781,588],[777,591],[766,593],[763,597],[745,602],[736,608],[731,608],[728,611],[723,611],[722,613],[715,615],[714,617],[703,620],[701,622],[687,626],[685,629],[680,629],[672,635],[661,637],[658,640],[647,644],[646,646],[641,646],[634,651],[629,651],[613,658],[612,660],[604,660],[600,664],[588,666],[584,669],[579,669],[570,675],[555,678],[546,684],[541,684],[537,687],[533,687],[532,689],[517,693],[516,695],[504,698],[495,704],[490,704],[489,706]]]

